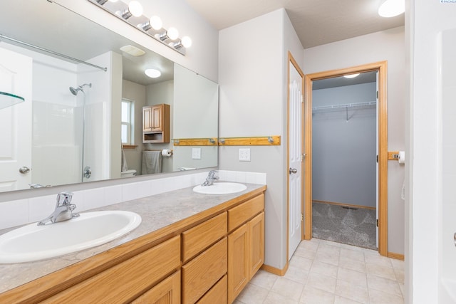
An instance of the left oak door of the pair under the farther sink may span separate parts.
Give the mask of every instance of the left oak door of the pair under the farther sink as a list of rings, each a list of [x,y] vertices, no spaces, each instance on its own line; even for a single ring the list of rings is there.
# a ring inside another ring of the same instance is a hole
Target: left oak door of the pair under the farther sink
[[[228,236],[228,303],[241,293],[249,282],[249,224]]]

